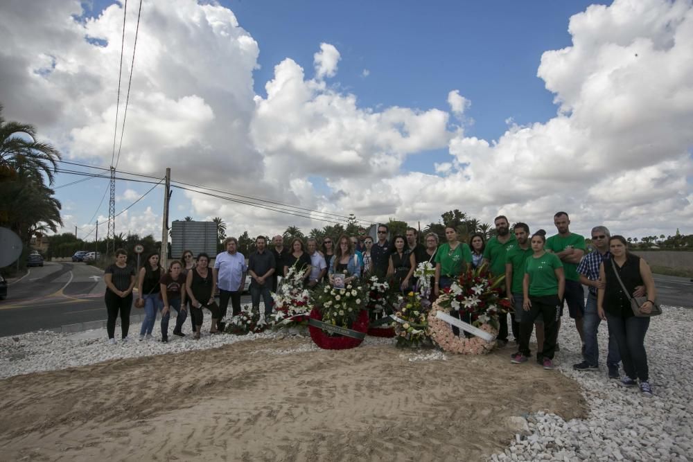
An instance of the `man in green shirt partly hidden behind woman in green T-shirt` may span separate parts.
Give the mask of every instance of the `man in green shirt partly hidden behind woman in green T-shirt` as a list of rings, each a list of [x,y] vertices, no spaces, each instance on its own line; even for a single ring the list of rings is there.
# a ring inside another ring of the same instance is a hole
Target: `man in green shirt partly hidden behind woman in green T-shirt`
[[[513,226],[517,246],[509,249],[505,255],[505,292],[508,294],[508,301],[515,310],[515,321],[523,322],[523,317],[528,317],[529,312],[523,309],[523,278],[525,277],[525,267],[527,258],[531,258],[534,251],[529,245],[529,226],[525,223],[516,223]],[[523,316],[524,315],[524,316]],[[541,364],[543,360],[544,346],[544,321],[541,313],[534,319],[536,328],[536,360]],[[532,332],[529,332],[532,335]]]

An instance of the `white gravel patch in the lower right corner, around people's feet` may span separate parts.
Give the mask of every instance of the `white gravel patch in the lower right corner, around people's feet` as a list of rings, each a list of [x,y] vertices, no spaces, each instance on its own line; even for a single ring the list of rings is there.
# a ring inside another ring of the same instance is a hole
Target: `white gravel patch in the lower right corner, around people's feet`
[[[516,434],[510,447],[490,460],[693,460],[693,310],[665,306],[663,311],[651,319],[645,336],[651,398],[637,387],[625,389],[608,379],[606,323],[599,326],[601,370],[574,371],[572,364],[582,360],[579,336],[572,320],[563,317],[555,363],[581,385],[590,406],[588,418],[565,422],[555,414],[523,416],[529,435]]]

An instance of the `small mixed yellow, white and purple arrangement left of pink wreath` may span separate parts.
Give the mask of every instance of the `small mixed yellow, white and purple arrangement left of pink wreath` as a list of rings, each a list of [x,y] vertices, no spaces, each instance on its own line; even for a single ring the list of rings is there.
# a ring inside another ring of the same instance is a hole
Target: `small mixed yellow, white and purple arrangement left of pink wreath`
[[[428,310],[430,301],[416,292],[409,292],[401,299],[394,314],[394,331],[398,347],[419,348],[430,345],[428,335]]]

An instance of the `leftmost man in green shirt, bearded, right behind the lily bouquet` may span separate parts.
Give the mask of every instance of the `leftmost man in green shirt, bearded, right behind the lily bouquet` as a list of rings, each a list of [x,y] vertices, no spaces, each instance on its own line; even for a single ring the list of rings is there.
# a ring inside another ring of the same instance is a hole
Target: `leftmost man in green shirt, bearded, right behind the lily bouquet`
[[[518,245],[518,241],[513,233],[510,233],[510,225],[508,219],[504,215],[499,215],[493,220],[495,224],[495,236],[486,242],[484,249],[484,263],[489,265],[489,271],[493,276],[505,275],[505,256],[509,249],[514,249]],[[504,293],[500,296],[505,297],[505,285],[501,286]],[[510,314],[512,323],[513,335],[515,340],[520,339],[520,328],[515,320],[515,314]],[[500,332],[498,332],[498,341],[501,346],[508,343],[508,319],[507,316],[500,316],[499,319]]]

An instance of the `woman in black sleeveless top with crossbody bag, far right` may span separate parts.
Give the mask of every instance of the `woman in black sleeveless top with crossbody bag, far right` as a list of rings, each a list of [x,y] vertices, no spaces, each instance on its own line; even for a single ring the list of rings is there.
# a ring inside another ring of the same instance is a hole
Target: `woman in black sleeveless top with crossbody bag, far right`
[[[604,288],[597,290],[597,312],[599,317],[608,323],[609,335],[613,335],[618,344],[626,377],[621,384],[634,387],[640,380],[640,391],[644,396],[652,396],[649,384],[649,368],[644,338],[649,327],[649,317],[636,317],[631,309],[629,294],[635,287],[644,285],[647,301],[640,307],[642,313],[652,311],[653,300],[657,296],[654,279],[649,265],[643,258],[626,250],[623,236],[609,238],[611,258],[599,266],[599,281],[604,281]],[[615,264],[613,265],[612,264]],[[616,272],[629,294],[624,293],[618,282]]]

